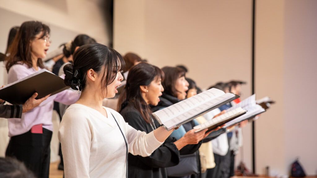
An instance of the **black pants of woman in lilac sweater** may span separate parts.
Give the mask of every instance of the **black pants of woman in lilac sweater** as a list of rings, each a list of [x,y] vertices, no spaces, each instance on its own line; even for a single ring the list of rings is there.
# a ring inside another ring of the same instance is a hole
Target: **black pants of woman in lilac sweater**
[[[49,178],[50,142],[52,131],[43,128],[43,134],[31,133],[11,137],[6,156],[22,161],[38,178]]]

